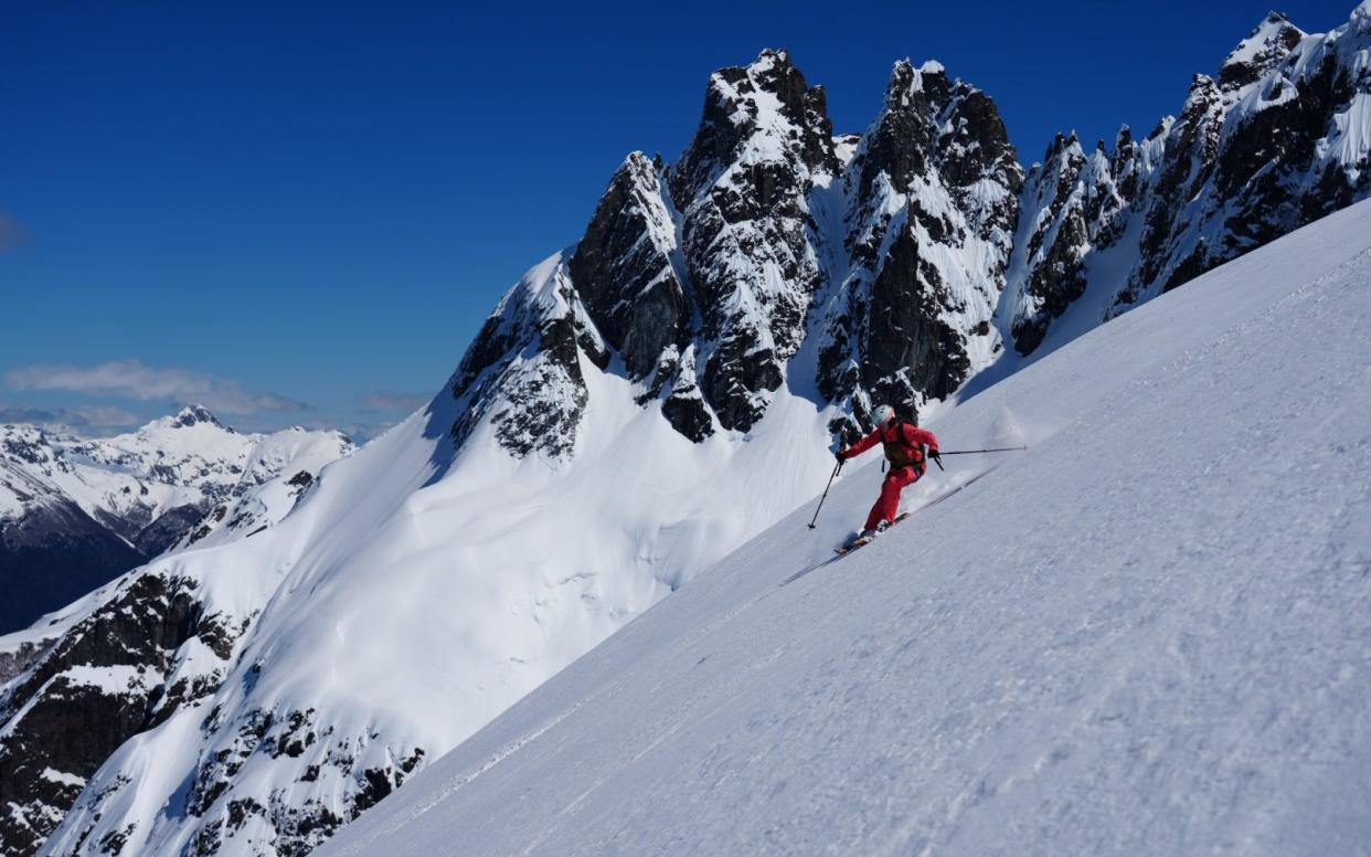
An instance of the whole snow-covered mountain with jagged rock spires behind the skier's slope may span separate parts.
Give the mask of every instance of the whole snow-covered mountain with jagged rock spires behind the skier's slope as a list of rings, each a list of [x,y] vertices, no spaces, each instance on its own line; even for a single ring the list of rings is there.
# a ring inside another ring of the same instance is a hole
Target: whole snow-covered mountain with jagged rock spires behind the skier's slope
[[[1368,10],[1301,36],[1361,77],[1304,100],[1286,137],[1371,138]],[[1239,59],[1267,80],[1268,53]],[[1142,255],[1180,270],[1165,259],[1190,232],[1124,252],[1148,225],[1137,206],[1180,199],[1163,177],[1191,144],[1168,141],[1121,138],[1087,171],[1063,138],[1026,177],[990,96],[936,63],[897,63],[861,134],[834,133],[784,51],[714,73],[681,156],[629,155],[583,239],[510,289],[428,407],[302,496],[255,498],[284,514],[265,532],[225,531],[245,507],[225,509],[217,532],[53,617],[60,639],[0,687],[0,845],[315,847],[812,498],[834,436],[875,402],[936,420],[968,378],[1021,365],[1020,321],[1047,318],[1054,347],[1160,291],[1078,296]],[[1272,149],[1261,174],[1324,143]],[[1335,163],[1352,189],[1290,185],[1300,206],[1366,196],[1357,158]],[[1052,298],[1080,259],[1087,287]]]

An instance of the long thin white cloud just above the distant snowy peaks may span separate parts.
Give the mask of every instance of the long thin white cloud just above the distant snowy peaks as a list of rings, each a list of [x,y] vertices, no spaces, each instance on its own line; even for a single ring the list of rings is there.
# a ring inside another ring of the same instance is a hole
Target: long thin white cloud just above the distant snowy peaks
[[[225,414],[303,411],[308,406],[274,394],[243,389],[233,381],[191,369],[154,369],[140,361],[111,361],[97,366],[38,365],[5,374],[15,389],[62,389],[93,396],[122,396],[149,402],[170,399],[204,405]]]

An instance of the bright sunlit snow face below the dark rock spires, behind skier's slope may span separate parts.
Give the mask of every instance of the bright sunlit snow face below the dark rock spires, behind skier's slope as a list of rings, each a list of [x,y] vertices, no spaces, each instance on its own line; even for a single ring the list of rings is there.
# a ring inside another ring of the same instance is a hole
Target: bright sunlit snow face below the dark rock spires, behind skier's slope
[[[152,713],[99,771],[63,771],[88,784],[45,853],[111,836],[147,854],[318,845],[831,469],[829,414],[784,389],[749,442],[696,444],[631,381],[590,363],[583,378],[561,468],[509,457],[495,413],[457,448],[444,392],[326,468],[276,527],[114,587],[5,698],[11,734],[38,740],[47,721],[25,706],[71,669],[69,650],[130,612],[181,617],[130,646],[134,661],[104,658],[143,666],[122,708]]]

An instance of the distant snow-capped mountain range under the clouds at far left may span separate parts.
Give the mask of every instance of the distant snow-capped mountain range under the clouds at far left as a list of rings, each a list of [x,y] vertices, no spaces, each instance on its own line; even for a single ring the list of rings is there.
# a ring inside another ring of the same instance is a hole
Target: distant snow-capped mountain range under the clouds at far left
[[[208,532],[284,472],[318,473],[351,450],[337,432],[244,435],[197,406],[101,439],[0,425],[0,629]]]

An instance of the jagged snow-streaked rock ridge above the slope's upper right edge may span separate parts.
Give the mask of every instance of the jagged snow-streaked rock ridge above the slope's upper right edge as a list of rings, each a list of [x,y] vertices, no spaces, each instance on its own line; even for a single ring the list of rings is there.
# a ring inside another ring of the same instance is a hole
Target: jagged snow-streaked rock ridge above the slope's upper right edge
[[[1030,170],[1032,224],[1001,306],[1017,351],[1087,291],[1076,333],[1371,196],[1368,19],[1363,1],[1307,36],[1272,12],[1142,145],[1124,133],[1087,159],[1073,137],[1054,143]]]

